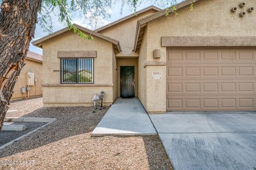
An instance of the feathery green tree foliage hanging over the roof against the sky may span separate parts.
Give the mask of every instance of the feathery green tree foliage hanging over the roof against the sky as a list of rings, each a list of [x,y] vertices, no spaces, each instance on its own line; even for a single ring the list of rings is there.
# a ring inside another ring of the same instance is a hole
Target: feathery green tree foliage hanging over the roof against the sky
[[[52,33],[52,14],[59,17],[60,22],[65,23],[69,29],[74,29],[83,39],[93,39],[90,35],[85,35],[81,30],[77,29],[71,19],[81,17],[87,13],[91,13],[90,22],[97,21],[97,17],[109,18],[108,10],[113,4],[121,2],[120,13],[124,6],[128,6],[135,13],[137,7],[146,0],[43,0],[41,10],[38,14],[38,23],[47,33]],[[170,11],[178,15],[176,4],[182,0],[150,0],[151,4],[166,8],[166,16],[169,16]],[[2,4],[2,0],[0,0]],[[170,8],[168,8],[170,7]],[[191,0],[190,10],[194,9],[194,0]],[[0,16],[1,17],[1,16]]]

